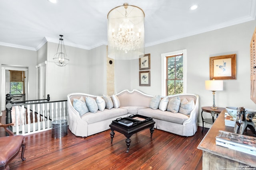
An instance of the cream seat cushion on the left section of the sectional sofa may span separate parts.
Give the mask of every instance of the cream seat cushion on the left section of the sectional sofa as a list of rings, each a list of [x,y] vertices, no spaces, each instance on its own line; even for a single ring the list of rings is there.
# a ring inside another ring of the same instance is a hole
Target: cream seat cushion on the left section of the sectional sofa
[[[81,118],[82,120],[90,124],[90,123],[112,119],[125,114],[127,114],[126,109],[112,108],[112,109],[104,109],[104,111],[98,110],[96,113],[87,112]]]

